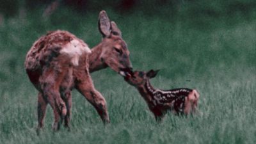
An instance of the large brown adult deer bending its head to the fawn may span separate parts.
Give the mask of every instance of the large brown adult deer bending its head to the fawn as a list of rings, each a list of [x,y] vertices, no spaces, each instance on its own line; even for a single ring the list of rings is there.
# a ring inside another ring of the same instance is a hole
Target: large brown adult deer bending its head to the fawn
[[[76,88],[97,110],[105,123],[109,122],[106,100],[94,88],[90,72],[111,67],[125,75],[131,68],[129,50],[120,29],[110,22],[105,11],[99,13],[102,42],[92,51],[67,31],[52,31],[40,37],[26,56],[25,67],[31,83],[38,90],[38,128],[44,126],[47,104],[54,111],[54,131],[62,120],[69,129],[72,88]]]

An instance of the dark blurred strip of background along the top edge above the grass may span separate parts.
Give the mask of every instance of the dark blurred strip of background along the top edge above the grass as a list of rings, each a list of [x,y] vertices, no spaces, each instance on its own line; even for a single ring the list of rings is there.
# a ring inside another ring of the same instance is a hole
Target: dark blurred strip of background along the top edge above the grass
[[[99,12],[109,8],[120,13],[143,15],[175,16],[186,13],[189,17],[207,15],[223,17],[232,15],[250,15],[256,11],[254,0],[0,0],[0,17],[19,15],[20,11],[44,9],[45,15],[51,15],[61,6],[72,8],[79,13]],[[42,13],[42,14],[43,14]]]

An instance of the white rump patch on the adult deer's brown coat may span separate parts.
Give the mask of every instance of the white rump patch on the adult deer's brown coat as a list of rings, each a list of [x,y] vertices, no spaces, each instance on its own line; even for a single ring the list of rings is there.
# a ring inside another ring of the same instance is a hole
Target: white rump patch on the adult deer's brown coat
[[[71,62],[74,66],[78,65],[79,57],[84,52],[90,54],[92,51],[88,47],[88,45],[79,42],[78,40],[72,40],[68,44],[66,44],[63,49],[61,49],[61,54],[68,54],[71,58]]]

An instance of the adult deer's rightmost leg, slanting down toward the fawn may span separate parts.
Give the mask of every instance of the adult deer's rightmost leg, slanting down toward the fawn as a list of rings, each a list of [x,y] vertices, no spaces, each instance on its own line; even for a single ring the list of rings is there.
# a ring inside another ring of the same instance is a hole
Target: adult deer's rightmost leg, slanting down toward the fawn
[[[106,100],[95,90],[92,78],[89,74],[83,76],[83,81],[76,84],[77,90],[94,106],[104,124],[109,123],[109,115]]]

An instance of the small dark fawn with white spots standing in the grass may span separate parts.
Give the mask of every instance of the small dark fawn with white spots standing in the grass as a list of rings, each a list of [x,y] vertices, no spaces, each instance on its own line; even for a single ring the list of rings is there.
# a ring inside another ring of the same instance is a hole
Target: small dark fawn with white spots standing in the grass
[[[125,76],[125,81],[138,89],[147,102],[148,108],[154,113],[156,120],[162,120],[168,110],[175,113],[175,115],[195,113],[199,99],[198,92],[189,88],[175,88],[172,90],[153,88],[149,79],[155,77],[158,71],[130,72]]]

